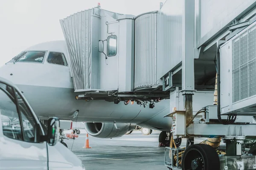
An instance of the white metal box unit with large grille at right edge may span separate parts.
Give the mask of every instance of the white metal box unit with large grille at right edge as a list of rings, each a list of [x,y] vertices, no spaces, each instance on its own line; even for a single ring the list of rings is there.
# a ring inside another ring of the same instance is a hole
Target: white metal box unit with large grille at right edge
[[[237,113],[251,115],[256,113],[256,22],[245,28],[221,47],[220,62],[223,59],[223,49],[229,45],[229,74],[221,79],[221,94],[225,94],[225,84],[228,84],[229,108],[221,113]],[[222,65],[221,70],[225,70]],[[226,69],[227,71],[227,69]],[[222,73],[222,71],[221,71]],[[223,99],[224,100],[224,99]],[[224,101],[225,102],[225,101]],[[221,105],[222,105],[221,100]],[[222,107],[222,106],[221,106]]]

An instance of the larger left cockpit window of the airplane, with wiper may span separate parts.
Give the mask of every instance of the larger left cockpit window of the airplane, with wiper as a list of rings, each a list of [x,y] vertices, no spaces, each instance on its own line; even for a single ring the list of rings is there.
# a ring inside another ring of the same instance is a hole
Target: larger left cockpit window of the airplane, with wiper
[[[45,51],[26,51],[21,53],[15,62],[43,62],[44,55]]]

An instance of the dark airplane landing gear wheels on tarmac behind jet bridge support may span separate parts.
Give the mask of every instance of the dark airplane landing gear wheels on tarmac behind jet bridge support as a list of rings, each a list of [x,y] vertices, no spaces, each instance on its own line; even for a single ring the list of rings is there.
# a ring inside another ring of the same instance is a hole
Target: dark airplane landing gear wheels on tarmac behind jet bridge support
[[[159,147],[169,147],[170,146],[170,140],[171,140],[171,135],[172,133],[166,132],[166,131],[162,131],[159,134],[158,137],[158,142],[159,142]],[[175,145],[176,147],[180,147],[180,144],[182,142],[182,138],[178,138],[178,139],[174,139]]]

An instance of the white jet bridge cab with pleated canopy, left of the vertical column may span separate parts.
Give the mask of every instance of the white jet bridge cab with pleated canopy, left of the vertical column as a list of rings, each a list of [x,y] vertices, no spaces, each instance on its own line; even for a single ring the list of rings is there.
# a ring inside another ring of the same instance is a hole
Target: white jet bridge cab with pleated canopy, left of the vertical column
[[[168,2],[139,16],[92,8],[60,20],[75,92],[166,93],[181,86],[184,2]]]

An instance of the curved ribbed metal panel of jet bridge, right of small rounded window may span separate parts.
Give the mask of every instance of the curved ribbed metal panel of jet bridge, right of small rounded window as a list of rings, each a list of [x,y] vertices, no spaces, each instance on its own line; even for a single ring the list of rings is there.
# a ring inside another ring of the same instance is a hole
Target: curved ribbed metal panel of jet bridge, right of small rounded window
[[[157,13],[143,14],[135,20],[134,88],[157,82]]]

